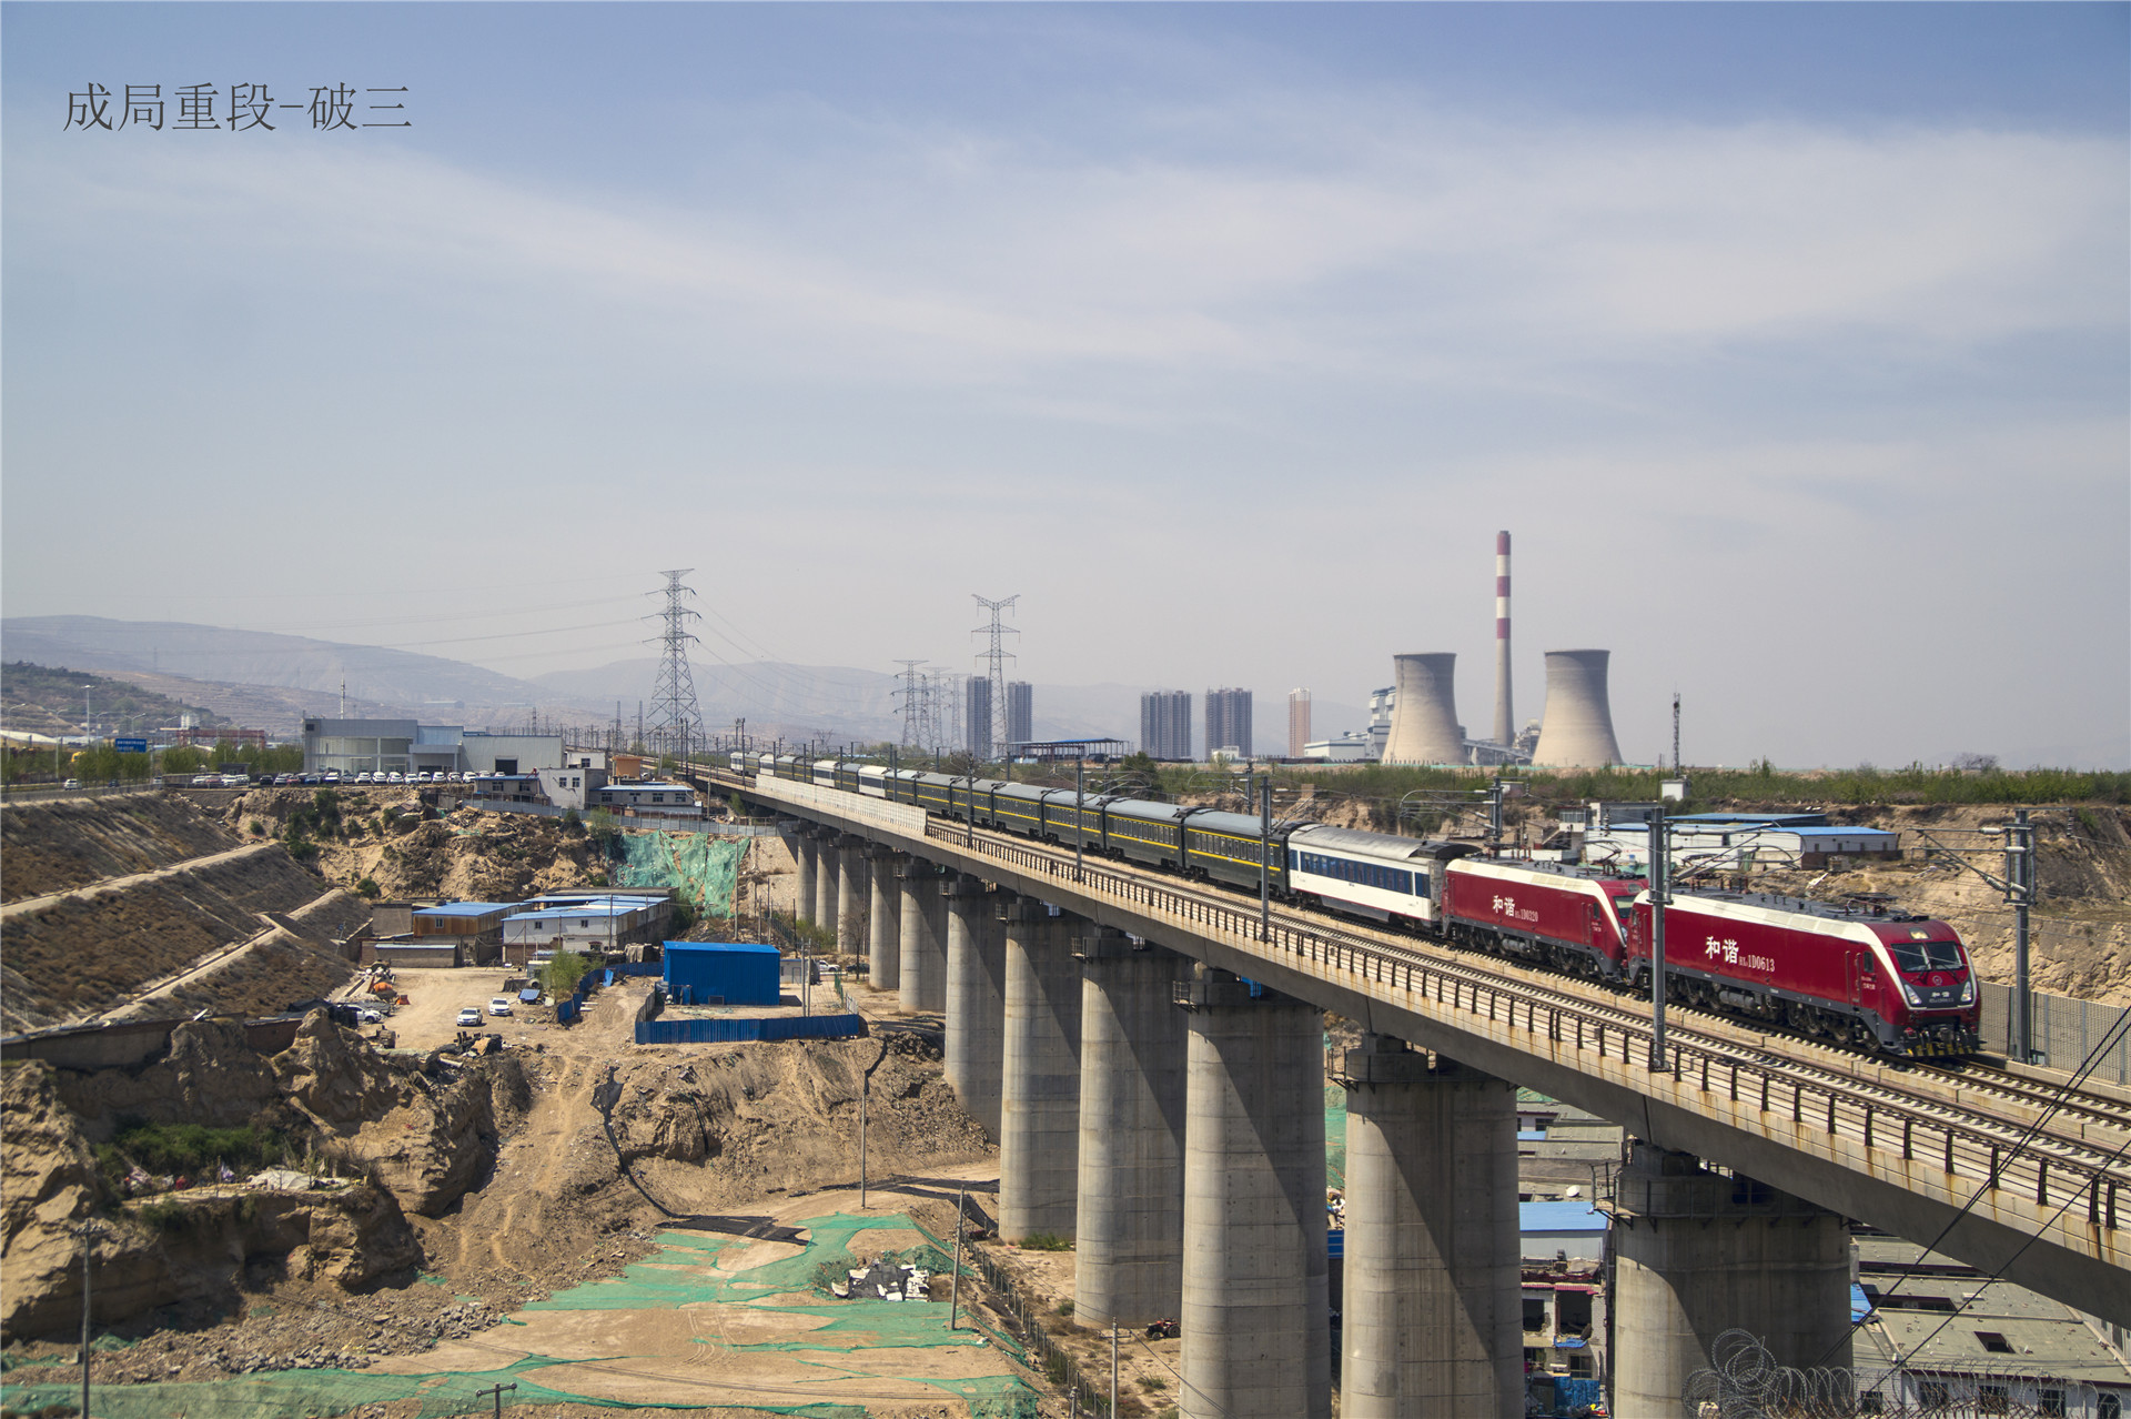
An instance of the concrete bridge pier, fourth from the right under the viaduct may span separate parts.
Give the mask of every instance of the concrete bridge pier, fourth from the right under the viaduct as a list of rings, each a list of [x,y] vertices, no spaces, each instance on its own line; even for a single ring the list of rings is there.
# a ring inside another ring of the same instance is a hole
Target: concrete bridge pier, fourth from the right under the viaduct
[[[1191,961],[1087,927],[1080,946],[1080,1187],[1074,1321],[1183,1312],[1185,1012]]]

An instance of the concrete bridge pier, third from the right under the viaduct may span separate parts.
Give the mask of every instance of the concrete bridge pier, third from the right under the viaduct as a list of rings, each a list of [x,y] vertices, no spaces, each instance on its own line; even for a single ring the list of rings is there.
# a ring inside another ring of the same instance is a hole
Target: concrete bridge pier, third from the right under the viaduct
[[[1185,1419],[1330,1419],[1323,1018],[1200,965],[1185,1080]]]

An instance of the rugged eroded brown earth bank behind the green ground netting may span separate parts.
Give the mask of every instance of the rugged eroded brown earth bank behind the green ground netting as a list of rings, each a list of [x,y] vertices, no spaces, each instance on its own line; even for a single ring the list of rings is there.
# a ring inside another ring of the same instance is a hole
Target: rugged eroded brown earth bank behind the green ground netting
[[[381,1055],[313,1014],[271,1059],[200,1021],[141,1070],[11,1067],[6,1361],[70,1351],[30,1336],[79,1317],[70,1227],[98,1208],[113,1219],[92,1144],[119,1119],[279,1127],[362,1180],[292,1195],[300,1208],[177,1193],[192,1214],[179,1240],[117,1217],[96,1253],[98,1308],[128,1312],[115,1330],[139,1342],[98,1359],[104,1383],[362,1368],[612,1276],[652,1251],[654,1227],[763,1232],[765,1210],[812,1210],[814,1193],[857,1180],[867,1070],[876,1206],[895,1193],[953,1234],[955,1185],[933,1174],[987,1165],[991,1146],[942,1080],[938,1021],[876,1021],[848,1042],[635,1048],[646,989],[595,993],[578,1029],[471,1065]]]

